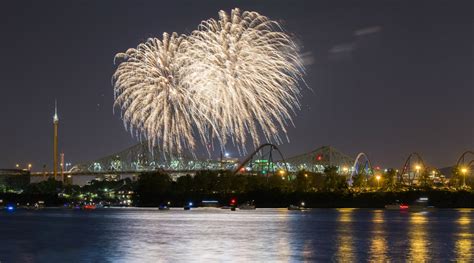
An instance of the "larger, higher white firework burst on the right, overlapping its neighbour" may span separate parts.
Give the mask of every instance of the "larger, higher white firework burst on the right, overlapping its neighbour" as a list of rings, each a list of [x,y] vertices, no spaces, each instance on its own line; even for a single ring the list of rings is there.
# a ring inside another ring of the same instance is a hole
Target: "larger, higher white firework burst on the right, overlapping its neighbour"
[[[211,138],[245,151],[263,139],[281,143],[299,108],[303,66],[280,25],[256,12],[219,12],[203,21],[176,56],[182,83],[212,120]],[[219,135],[220,134],[220,135]],[[249,139],[248,139],[249,138]],[[288,138],[287,138],[288,139]]]

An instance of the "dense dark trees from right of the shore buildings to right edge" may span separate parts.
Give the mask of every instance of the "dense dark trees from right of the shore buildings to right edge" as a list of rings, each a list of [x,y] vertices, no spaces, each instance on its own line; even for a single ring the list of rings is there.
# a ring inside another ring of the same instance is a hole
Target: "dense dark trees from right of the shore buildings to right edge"
[[[325,173],[301,171],[291,178],[278,174],[255,176],[201,171],[173,181],[165,173],[147,173],[136,182],[135,204],[157,206],[171,202],[183,206],[190,201],[212,199],[227,205],[236,198],[239,203],[254,200],[259,207],[286,207],[300,202],[308,207],[384,207],[397,200],[411,203],[427,196],[431,205],[437,207],[474,206],[474,194],[469,191],[439,187],[428,181],[416,187],[403,187],[396,182],[392,171],[382,177],[377,182],[372,177],[356,176],[349,187],[335,167],[327,168]]]

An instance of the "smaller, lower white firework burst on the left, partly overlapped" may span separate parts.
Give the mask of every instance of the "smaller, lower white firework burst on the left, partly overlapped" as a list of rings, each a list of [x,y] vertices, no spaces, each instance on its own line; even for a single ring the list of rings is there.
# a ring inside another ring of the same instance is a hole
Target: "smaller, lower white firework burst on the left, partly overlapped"
[[[178,75],[175,57],[183,40],[176,33],[164,33],[162,40],[150,38],[119,53],[116,58],[123,62],[113,75],[114,107],[120,107],[126,129],[166,155],[192,151],[193,127],[201,127],[201,119],[189,107],[193,96]]]

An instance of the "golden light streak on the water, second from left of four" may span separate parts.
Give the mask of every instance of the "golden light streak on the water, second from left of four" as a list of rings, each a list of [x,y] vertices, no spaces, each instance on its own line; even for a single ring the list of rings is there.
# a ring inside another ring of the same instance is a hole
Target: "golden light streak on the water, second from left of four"
[[[387,233],[384,229],[384,211],[376,210],[372,217],[372,239],[370,242],[370,261],[385,262],[387,258]]]

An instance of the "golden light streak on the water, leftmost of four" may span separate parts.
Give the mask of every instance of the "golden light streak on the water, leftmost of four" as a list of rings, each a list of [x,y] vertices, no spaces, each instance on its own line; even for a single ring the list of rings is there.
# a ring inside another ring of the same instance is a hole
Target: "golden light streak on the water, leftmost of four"
[[[335,259],[339,262],[357,261],[354,253],[354,233],[352,229],[354,210],[353,208],[337,209],[339,216],[337,218],[337,253]]]

